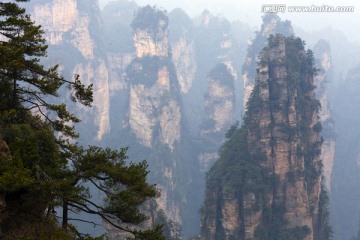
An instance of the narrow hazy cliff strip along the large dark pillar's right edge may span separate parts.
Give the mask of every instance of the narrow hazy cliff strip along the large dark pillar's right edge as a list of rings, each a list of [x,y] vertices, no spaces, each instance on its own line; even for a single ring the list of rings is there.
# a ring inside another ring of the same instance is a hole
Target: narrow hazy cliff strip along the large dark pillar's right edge
[[[316,59],[316,68],[319,69],[318,74],[314,79],[316,85],[315,92],[321,104],[319,117],[322,124],[322,136],[324,139],[321,146],[321,159],[324,165],[326,188],[330,191],[336,144],[334,120],[330,108],[328,91],[328,83],[332,80],[332,62],[329,43],[325,40],[320,40],[314,46],[314,55]]]

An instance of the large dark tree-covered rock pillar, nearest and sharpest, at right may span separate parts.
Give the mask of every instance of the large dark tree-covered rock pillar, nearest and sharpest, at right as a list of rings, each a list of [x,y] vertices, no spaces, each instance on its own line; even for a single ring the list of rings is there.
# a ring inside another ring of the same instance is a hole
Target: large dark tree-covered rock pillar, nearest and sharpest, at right
[[[300,39],[270,38],[207,177],[204,239],[328,239],[313,64]]]

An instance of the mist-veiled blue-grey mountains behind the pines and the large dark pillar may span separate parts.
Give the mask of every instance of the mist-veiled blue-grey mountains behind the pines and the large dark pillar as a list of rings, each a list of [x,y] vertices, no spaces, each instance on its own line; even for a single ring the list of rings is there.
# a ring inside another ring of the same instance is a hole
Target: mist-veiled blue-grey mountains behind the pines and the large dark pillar
[[[109,2],[102,11],[96,1],[87,0],[32,0],[28,9],[45,30],[49,51],[44,64],[59,64],[66,79],[79,74],[85,84],[94,84],[92,109],[77,108],[67,100],[69,96],[62,96],[82,120],[77,127],[81,143],[129,146],[130,160],[146,159],[150,181],[161,190],[151,212],[163,211],[182,226],[185,237],[200,232],[198,211],[203,210],[206,174],[221,161],[228,130],[243,121],[268,38],[275,34],[301,37],[313,49],[318,69],[314,94],[322,105],[320,159],[334,239],[355,236],[360,222],[360,215],[353,214],[360,199],[356,131],[360,47],[341,32],[307,32],[268,14],[253,33],[246,23],[231,22],[207,10],[190,18],[182,9],[139,8],[127,0]],[[288,176],[284,179],[281,186],[289,181]],[[316,175],[318,186],[319,181]],[[225,200],[232,199],[227,197],[219,197],[224,206]],[[229,209],[222,217],[232,221],[236,216]],[[314,221],[315,215],[308,220]],[[230,231],[233,226],[228,229],[225,220],[222,228]],[[302,225],[313,229],[309,222]]]

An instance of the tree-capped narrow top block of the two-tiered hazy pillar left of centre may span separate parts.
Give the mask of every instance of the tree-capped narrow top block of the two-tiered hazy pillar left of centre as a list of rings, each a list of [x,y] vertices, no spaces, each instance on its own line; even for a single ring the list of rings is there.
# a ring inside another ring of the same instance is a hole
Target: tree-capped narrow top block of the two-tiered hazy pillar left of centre
[[[136,56],[169,55],[169,19],[163,11],[149,5],[140,8],[131,23]]]

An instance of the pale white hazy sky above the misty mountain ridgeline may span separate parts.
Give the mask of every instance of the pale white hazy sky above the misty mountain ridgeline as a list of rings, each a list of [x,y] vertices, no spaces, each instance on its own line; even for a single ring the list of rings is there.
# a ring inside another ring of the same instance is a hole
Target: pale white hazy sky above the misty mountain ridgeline
[[[103,7],[107,2],[114,0],[99,0]],[[358,0],[271,0],[271,1],[244,1],[244,0],[136,0],[140,5],[157,5],[171,11],[180,7],[191,17],[201,14],[204,9],[210,10],[215,15],[223,15],[229,20],[241,20],[251,27],[257,28],[261,24],[262,7],[264,4],[285,4],[284,13],[279,13],[282,19],[291,20],[294,26],[307,30],[316,30],[331,26],[334,29],[342,30],[349,39],[360,43],[360,1]],[[354,6],[351,13],[330,13],[330,12],[292,12],[288,11],[289,6]]]

